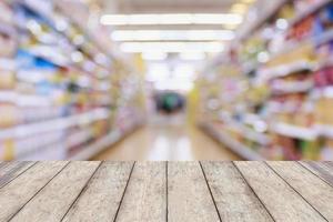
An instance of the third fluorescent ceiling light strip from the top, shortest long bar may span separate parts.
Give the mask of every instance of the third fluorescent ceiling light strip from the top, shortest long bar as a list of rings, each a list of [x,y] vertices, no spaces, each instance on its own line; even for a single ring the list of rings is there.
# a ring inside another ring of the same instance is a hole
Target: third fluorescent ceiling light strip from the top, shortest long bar
[[[222,52],[222,42],[123,42],[120,44],[123,52]]]

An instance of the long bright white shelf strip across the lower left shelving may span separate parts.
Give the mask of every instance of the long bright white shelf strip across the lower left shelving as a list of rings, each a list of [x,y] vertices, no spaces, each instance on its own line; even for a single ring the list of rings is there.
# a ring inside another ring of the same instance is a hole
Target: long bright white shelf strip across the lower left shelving
[[[98,120],[103,120],[108,117],[109,110],[100,108],[82,114],[59,118],[56,120],[42,121],[38,123],[30,123],[26,125],[18,125],[0,131],[0,140],[4,140],[8,138],[23,138],[43,132],[64,130],[79,124],[88,124]]]

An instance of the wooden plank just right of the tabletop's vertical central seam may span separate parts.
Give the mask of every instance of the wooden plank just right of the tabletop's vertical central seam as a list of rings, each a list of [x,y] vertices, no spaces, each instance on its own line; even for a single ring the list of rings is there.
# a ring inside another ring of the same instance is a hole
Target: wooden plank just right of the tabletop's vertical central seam
[[[198,162],[168,163],[168,220],[220,221]]]

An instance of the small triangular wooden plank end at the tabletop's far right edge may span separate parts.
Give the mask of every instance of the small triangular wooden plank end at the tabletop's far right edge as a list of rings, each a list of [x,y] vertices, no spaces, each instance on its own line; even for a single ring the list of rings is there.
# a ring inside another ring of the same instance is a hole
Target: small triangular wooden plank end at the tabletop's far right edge
[[[333,167],[329,162],[301,161],[300,164],[333,186]]]

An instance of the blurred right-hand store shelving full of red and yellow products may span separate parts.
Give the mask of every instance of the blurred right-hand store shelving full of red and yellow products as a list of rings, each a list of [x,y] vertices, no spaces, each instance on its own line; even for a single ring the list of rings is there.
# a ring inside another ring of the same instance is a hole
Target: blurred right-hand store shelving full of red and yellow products
[[[202,119],[211,117],[218,122],[219,128],[214,128],[214,121],[204,124],[215,131],[209,134],[231,150],[242,148],[262,159],[276,160],[326,160],[327,153],[333,153],[327,152],[333,149],[332,121],[324,113],[331,109],[332,87],[319,87],[330,72],[323,70],[333,64],[329,47],[322,49],[333,40],[332,1],[305,6],[295,10],[295,2],[276,2],[255,26],[240,33],[230,54],[205,69],[200,82]],[[316,32],[309,31],[312,26],[316,26]],[[271,37],[264,38],[269,32]],[[231,113],[232,121],[221,112]],[[248,122],[249,113],[260,118]],[[269,142],[263,144],[258,138],[269,138]]]

